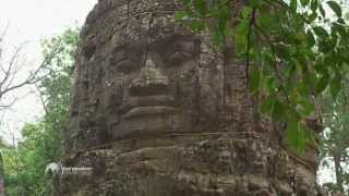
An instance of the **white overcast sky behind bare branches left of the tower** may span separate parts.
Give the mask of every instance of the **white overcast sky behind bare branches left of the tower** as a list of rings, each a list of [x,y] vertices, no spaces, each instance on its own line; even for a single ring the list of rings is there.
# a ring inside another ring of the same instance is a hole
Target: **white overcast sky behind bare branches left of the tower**
[[[62,33],[70,26],[82,25],[97,0],[0,0],[0,32],[7,26],[5,47],[8,54],[20,44],[25,45],[24,57],[34,69],[40,62],[39,40]],[[7,53],[5,53],[7,54]],[[0,134],[12,142],[12,133],[25,122],[40,117],[43,109],[34,95],[19,101],[4,115]]]

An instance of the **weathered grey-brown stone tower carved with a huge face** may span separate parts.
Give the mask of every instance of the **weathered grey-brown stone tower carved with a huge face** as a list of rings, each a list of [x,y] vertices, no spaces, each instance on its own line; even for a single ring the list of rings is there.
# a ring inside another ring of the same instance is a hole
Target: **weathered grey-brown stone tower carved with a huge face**
[[[67,196],[316,196],[316,148],[256,120],[233,48],[174,22],[174,0],[99,0],[76,56]]]

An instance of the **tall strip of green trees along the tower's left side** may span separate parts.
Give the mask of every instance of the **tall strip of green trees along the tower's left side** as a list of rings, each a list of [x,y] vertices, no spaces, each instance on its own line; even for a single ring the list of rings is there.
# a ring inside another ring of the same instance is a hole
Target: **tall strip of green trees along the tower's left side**
[[[50,64],[38,75],[36,84],[45,108],[43,119],[26,124],[22,130],[23,140],[16,147],[4,150],[4,171],[9,195],[50,195],[51,180],[45,168],[57,162],[61,155],[61,134],[68,120],[70,87],[74,51],[79,29],[65,30],[62,35],[43,41],[43,54],[58,49]]]

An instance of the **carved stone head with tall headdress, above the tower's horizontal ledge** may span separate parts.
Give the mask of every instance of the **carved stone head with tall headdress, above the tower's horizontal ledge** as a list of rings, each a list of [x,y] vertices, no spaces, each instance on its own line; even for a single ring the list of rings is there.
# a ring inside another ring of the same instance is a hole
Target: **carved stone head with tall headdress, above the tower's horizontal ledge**
[[[218,132],[221,53],[214,52],[209,36],[174,22],[176,9],[176,1],[107,0],[89,14],[67,146]]]

